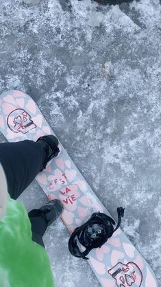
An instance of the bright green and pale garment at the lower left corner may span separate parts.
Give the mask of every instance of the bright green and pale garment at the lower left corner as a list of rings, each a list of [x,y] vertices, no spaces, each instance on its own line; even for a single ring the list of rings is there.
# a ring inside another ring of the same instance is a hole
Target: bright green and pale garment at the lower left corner
[[[27,211],[11,198],[0,221],[0,287],[54,287],[47,253],[32,241]]]

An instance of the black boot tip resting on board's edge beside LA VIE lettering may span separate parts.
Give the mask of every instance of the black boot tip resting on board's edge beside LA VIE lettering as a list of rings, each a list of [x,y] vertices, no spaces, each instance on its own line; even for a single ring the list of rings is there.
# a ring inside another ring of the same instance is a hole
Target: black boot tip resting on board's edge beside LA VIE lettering
[[[64,207],[60,200],[54,199],[49,201],[46,205],[40,207],[40,210],[45,216],[47,226],[51,225],[54,220],[58,219],[63,211]]]

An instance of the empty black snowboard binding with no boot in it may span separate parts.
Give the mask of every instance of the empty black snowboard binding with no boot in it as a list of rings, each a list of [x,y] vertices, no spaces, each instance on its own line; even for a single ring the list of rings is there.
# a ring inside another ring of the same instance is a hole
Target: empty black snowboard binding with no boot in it
[[[113,227],[115,221],[110,216],[101,212],[95,212],[84,225],[77,227],[69,239],[69,251],[71,254],[75,257],[82,257],[82,259],[88,260],[86,255],[92,249],[101,248],[121,225],[124,208],[118,207],[117,214],[118,223],[115,229]],[[85,247],[85,251],[82,252],[80,250],[80,244]]]

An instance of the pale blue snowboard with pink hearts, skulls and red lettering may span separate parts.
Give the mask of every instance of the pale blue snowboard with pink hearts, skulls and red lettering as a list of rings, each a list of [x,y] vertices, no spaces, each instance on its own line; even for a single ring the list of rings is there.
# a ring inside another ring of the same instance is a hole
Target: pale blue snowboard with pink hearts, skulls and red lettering
[[[55,135],[38,106],[21,91],[0,96],[0,131],[11,142]],[[64,205],[62,220],[70,233],[94,212],[110,216],[59,142],[60,153],[36,176],[49,200]],[[71,255],[72,256],[72,255]],[[157,287],[149,264],[119,228],[100,249],[92,249],[88,263],[103,287]],[[81,264],[81,260],[80,264]]]

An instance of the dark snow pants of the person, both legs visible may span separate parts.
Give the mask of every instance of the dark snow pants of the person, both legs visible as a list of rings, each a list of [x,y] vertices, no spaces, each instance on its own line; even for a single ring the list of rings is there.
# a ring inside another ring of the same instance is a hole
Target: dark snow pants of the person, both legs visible
[[[8,193],[15,199],[32,183],[45,161],[45,150],[34,141],[0,143],[0,163],[5,171]],[[32,224],[32,240],[45,247],[42,236],[47,229],[47,222],[40,209],[33,209],[28,214]]]

